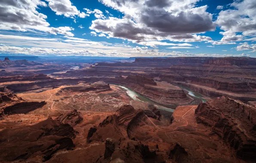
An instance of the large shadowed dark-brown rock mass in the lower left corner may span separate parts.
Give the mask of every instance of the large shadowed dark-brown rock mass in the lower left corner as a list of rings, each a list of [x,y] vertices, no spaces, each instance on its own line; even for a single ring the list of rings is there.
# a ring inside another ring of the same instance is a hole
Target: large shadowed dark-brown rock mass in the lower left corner
[[[0,162],[41,157],[49,160],[59,150],[74,147],[76,132],[69,124],[48,118],[32,126],[5,129],[0,132]]]

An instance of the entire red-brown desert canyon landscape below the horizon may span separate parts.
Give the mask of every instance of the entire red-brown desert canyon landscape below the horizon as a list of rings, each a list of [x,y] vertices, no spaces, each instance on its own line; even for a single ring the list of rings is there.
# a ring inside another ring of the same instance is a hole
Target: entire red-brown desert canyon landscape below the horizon
[[[73,67],[0,61],[1,163],[255,162],[255,58]]]

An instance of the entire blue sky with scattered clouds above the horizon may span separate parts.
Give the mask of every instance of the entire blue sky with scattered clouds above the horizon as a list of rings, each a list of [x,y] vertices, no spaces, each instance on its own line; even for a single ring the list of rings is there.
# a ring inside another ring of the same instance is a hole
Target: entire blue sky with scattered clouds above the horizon
[[[256,57],[256,0],[0,0],[0,54]]]

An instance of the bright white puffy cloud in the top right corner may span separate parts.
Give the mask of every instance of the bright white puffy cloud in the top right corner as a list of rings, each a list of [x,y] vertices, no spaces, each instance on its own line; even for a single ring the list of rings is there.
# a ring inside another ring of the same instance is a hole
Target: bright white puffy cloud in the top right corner
[[[256,34],[255,2],[255,0],[235,0],[230,4],[232,8],[219,12],[216,24],[225,31],[221,33],[222,42],[241,41],[243,36]]]

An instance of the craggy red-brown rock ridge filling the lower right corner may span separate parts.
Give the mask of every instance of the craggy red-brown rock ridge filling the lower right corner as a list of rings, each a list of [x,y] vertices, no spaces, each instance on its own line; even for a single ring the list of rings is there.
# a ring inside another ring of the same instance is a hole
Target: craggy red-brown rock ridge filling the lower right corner
[[[243,160],[256,159],[256,108],[229,97],[201,103],[197,123],[211,127]]]

